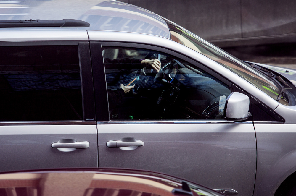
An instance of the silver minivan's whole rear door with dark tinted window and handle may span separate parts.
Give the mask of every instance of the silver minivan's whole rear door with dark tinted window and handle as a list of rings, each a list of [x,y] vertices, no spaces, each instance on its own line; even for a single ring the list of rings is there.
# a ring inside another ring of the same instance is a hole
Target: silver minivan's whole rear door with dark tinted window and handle
[[[0,48],[0,171],[97,167],[88,41]]]

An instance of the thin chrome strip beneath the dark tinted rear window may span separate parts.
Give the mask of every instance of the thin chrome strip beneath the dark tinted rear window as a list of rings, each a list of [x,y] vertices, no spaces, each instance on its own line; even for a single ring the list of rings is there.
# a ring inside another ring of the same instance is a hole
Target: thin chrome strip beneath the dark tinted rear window
[[[96,124],[95,121],[32,121],[32,122],[0,122],[1,125],[69,125],[69,124]]]

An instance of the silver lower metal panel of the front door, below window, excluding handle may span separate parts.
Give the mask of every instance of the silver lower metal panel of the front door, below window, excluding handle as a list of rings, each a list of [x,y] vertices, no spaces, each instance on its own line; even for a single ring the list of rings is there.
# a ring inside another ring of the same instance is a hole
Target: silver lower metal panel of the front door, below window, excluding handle
[[[133,137],[135,150],[107,148],[106,142]],[[99,167],[147,169],[173,174],[212,189],[252,195],[256,139],[252,123],[110,122],[98,124]]]

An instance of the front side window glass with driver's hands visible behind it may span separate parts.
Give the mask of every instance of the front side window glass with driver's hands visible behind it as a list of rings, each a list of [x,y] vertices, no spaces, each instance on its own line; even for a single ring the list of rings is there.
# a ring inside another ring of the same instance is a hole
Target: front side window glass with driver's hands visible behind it
[[[168,54],[103,47],[110,120],[221,120],[230,88]]]

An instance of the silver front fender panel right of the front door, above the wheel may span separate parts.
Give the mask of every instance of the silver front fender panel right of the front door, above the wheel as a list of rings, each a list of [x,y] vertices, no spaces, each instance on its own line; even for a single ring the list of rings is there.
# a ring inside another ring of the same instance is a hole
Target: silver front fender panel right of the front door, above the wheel
[[[254,195],[272,196],[296,170],[295,125],[255,124],[254,127],[258,153]]]

